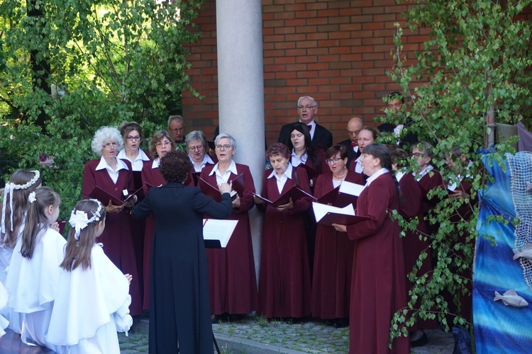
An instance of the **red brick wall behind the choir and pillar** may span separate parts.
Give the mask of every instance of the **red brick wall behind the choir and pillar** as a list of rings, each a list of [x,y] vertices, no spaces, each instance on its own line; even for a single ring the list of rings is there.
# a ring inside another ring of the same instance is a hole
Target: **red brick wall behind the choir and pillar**
[[[399,90],[387,76],[394,65],[394,23],[404,24],[406,5],[394,0],[262,0],[265,130],[277,141],[281,125],[297,119],[300,96],[318,101],[316,120],[346,139],[345,125],[354,115],[373,125],[382,115],[382,96]],[[209,139],[218,125],[215,0],[200,13],[202,36],[190,48],[192,86],[203,101],[183,97],[187,131],[203,129]],[[404,30],[404,51],[413,55],[426,30]]]

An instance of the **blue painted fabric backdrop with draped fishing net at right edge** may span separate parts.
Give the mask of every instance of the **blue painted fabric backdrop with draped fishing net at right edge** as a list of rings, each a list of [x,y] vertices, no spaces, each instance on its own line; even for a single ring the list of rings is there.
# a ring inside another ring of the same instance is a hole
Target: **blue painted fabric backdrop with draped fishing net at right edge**
[[[477,230],[481,236],[473,278],[475,347],[477,353],[525,353],[532,348],[532,265],[523,258],[514,260],[513,250],[521,251],[532,241],[532,188],[528,190],[532,154],[507,154],[504,169],[489,159],[484,156],[484,166],[494,181],[479,191]],[[508,223],[491,220],[496,216]],[[518,227],[512,223],[516,217],[521,219]],[[503,294],[511,289],[529,305],[513,307],[494,301],[496,291]]]

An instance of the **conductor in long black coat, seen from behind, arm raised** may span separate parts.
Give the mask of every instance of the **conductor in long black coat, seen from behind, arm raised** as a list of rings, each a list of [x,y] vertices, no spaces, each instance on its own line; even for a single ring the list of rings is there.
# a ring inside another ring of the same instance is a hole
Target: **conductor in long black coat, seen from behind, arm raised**
[[[204,215],[225,219],[233,210],[231,185],[221,202],[183,185],[192,165],[184,152],[160,160],[166,185],[148,190],[131,215],[155,217],[151,258],[149,353],[213,353]]]

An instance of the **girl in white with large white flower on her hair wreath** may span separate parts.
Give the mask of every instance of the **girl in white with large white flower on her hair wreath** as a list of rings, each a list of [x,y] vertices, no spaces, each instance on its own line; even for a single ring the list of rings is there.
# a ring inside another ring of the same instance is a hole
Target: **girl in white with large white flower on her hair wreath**
[[[129,315],[131,275],[124,276],[96,237],[104,232],[101,202],[77,202],[57,286],[48,347],[57,353],[120,353],[118,332],[133,324]]]

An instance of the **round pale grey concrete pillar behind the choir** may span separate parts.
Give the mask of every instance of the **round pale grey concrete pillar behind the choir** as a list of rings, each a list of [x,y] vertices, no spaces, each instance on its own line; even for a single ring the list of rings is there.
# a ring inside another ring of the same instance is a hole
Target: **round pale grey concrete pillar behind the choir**
[[[233,158],[250,166],[260,193],[265,170],[261,0],[217,0],[216,36],[220,132],[236,139]],[[250,222],[258,274],[262,215],[256,207]]]

